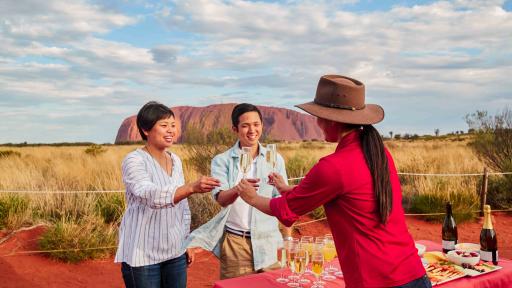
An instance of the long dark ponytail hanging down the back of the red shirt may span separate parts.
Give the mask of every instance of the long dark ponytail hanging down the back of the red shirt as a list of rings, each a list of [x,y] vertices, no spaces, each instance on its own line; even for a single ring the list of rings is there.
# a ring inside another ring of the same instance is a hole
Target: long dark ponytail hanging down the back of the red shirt
[[[366,164],[373,180],[373,191],[377,199],[380,222],[386,224],[393,206],[393,192],[389,179],[388,158],[384,150],[382,138],[372,125],[363,125],[361,145]]]

